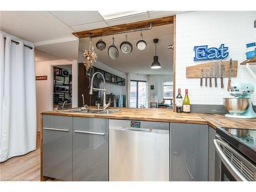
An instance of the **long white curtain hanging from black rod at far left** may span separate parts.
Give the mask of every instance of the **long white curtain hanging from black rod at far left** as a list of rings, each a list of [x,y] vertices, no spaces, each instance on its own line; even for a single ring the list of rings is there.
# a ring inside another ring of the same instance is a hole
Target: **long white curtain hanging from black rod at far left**
[[[0,34],[0,162],[36,148],[34,49]]]

